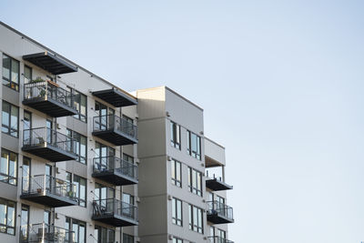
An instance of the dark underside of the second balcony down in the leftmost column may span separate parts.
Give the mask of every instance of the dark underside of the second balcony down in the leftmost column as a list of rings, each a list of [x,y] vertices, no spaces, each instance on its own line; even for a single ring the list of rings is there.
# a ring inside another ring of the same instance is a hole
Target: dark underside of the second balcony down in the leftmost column
[[[37,157],[43,157],[52,162],[74,160],[77,158],[75,154],[69,153],[58,147],[46,146],[46,144],[43,146],[22,147],[22,150]]]

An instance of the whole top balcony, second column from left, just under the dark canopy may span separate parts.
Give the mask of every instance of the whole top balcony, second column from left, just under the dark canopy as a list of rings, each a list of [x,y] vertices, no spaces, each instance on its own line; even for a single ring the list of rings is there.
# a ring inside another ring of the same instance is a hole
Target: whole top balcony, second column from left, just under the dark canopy
[[[95,116],[92,134],[116,146],[137,143],[137,127],[115,115]]]

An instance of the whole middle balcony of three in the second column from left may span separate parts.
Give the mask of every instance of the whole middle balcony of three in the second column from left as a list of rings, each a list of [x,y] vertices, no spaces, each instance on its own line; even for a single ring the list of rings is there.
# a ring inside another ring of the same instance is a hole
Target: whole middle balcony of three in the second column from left
[[[92,177],[102,179],[115,186],[137,183],[137,166],[119,157],[95,157]]]

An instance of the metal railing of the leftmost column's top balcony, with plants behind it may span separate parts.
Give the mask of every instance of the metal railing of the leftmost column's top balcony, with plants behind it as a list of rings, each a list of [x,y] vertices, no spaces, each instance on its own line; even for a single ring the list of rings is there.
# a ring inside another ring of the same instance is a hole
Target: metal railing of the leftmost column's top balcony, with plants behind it
[[[40,81],[24,85],[24,99],[53,99],[65,106],[76,109],[79,96],[62,87],[53,86],[48,81]]]

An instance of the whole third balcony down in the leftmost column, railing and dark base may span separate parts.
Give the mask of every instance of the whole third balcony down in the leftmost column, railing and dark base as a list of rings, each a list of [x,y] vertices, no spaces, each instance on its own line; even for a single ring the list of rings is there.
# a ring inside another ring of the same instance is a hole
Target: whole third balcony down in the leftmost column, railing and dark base
[[[73,184],[56,177],[45,175],[23,177],[20,198],[50,208],[74,206],[77,202],[73,188]]]

